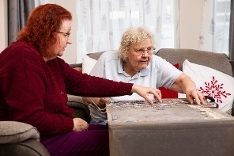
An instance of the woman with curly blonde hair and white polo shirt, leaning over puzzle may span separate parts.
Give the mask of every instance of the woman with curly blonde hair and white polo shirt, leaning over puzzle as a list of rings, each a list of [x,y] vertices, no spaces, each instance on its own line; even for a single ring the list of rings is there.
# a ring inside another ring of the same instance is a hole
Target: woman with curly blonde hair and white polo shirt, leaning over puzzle
[[[119,51],[103,53],[90,74],[152,88],[163,86],[186,93],[190,103],[205,103],[203,94],[196,90],[194,82],[166,60],[153,55],[154,50],[154,36],[149,30],[144,27],[130,27],[122,35]],[[91,123],[106,124],[105,103],[110,98],[83,99],[90,103]],[[137,94],[111,99],[142,100]]]

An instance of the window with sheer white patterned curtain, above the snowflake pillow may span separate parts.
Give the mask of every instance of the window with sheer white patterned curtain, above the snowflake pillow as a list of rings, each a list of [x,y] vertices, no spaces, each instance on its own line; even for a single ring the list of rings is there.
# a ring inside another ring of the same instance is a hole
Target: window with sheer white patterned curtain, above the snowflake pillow
[[[230,0],[204,1],[200,49],[229,55]]]

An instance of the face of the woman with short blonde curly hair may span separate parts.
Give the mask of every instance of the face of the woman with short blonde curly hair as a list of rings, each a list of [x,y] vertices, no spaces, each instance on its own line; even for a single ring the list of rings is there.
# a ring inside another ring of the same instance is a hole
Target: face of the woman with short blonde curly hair
[[[127,53],[127,60],[125,67],[128,70],[134,70],[138,72],[148,66],[153,52],[153,45],[150,39],[146,39],[143,42],[131,46]]]

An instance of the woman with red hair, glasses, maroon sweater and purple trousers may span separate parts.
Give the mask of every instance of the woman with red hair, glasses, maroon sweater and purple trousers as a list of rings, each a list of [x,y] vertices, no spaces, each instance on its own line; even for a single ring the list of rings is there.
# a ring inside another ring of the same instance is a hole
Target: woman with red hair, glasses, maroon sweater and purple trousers
[[[109,155],[108,127],[73,118],[67,94],[110,97],[139,94],[149,103],[160,91],[82,74],[62,56],[71,44],[72,16],[56,4],[36,7],[17,41],[0,53],[0,120],[29,123],[52,156]]]

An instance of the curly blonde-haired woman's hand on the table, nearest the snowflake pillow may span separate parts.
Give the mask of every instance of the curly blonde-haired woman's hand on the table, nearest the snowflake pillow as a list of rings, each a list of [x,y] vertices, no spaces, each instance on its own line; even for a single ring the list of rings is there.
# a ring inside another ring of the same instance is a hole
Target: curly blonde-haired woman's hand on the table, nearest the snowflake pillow
[[[191,104],[206,104],[206,98],[204,95],[195,88],[190,88],[186,90],[186,98]]]

